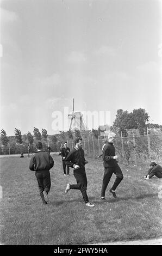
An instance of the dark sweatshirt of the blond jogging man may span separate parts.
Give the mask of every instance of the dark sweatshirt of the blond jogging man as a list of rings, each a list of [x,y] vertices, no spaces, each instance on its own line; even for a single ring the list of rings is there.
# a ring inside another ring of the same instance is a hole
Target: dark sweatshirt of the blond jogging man
[[[104,167],[114,167],[117,165],[117,161],[113,159],[113,156],[115,156],[115,147],[112,142],[108,142],[105,144],[102,154]]]

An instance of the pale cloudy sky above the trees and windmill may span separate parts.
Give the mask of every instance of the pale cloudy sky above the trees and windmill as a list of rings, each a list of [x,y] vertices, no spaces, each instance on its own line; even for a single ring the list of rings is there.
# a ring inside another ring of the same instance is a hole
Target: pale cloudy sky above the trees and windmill
[[[145,108],[162,124],[161,1],[1,1],[1,127],[54,134],[55,113]],[[91,127],[89,127],[91,128]]]

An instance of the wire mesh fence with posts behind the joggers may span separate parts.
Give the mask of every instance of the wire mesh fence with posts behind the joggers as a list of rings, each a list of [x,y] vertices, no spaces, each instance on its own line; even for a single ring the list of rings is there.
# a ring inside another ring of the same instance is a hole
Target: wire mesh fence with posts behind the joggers
[[[90,135],[83,138],[85,156],[95,158],[101,155],[104,142],[105,138],[99,136],[96,138]],[[162,134],[117,137],[114,145],[121,163],[162,162]],[[68,140],[68,147],[74,147],[74,140]]]

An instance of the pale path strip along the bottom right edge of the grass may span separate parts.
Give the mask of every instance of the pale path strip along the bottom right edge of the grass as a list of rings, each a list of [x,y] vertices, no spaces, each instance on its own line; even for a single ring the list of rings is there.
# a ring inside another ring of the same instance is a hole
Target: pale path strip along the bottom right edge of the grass
[[[159,239],[148,239],[148,240],[89,243],[88,245],[162,245],[162,237]]]

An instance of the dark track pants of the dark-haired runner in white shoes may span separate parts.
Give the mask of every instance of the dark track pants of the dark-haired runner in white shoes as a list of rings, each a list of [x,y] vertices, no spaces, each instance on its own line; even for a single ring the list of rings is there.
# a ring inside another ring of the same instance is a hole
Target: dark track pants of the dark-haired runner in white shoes
[[[76,178],[77,184],[70,185],[70,189],[72,190],[80,190],[83,196],[83,200],[85,203],[89,202],[88,196],[86,194],[87,187],[87,179],[85,173],[85,167],[80,167],[73,172],[74,177]]]

